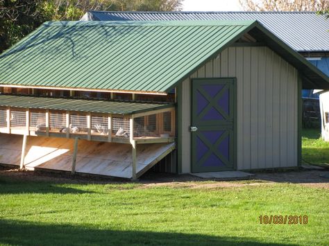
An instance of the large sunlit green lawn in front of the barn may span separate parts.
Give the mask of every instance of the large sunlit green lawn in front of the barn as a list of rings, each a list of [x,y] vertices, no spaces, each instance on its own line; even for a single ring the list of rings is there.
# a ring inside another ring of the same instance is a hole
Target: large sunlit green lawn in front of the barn
[[[328,204],[328,190],[299,184],[144,188],[0,176],[0,244],[328,245]],[[261,215],[309,222],[260,225]]]

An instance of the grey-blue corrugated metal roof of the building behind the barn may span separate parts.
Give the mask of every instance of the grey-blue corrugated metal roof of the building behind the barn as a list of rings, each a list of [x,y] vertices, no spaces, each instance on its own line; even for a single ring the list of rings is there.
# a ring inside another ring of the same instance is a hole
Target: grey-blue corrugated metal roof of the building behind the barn
[[[83,20],[248,20],[256,19],[296,51],[329,51],[329,21],[315,12],[102,12]]]

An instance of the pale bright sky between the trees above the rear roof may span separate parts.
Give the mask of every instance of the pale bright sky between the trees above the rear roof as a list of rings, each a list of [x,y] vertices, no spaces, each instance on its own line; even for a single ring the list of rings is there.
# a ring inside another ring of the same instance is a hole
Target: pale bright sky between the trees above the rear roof
[[[238,11],[239,0],[184,0],[183,11]]]

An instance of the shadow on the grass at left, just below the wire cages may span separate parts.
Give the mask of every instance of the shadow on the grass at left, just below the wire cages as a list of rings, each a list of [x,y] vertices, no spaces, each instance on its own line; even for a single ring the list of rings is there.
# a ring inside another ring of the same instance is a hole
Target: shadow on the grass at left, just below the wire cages
[[[93,193],[91,191],[82,191],[76,188],[63,187],[60,184],[52,182],[33,182],[19,179],[9,179],[9,177],[0,177],[0,195],[4,194],[82,194]]]

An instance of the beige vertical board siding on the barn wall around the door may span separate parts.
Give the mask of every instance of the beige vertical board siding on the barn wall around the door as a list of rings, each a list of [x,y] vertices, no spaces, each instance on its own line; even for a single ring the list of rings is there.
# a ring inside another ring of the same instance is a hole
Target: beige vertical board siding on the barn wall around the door
[[[182,173],[191,172],[192,78],[237,78],[237,169],[297,166],[298,72],[266,46],[222,51],[183,81]]]

